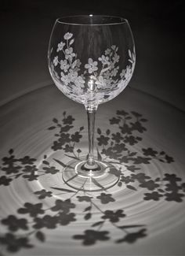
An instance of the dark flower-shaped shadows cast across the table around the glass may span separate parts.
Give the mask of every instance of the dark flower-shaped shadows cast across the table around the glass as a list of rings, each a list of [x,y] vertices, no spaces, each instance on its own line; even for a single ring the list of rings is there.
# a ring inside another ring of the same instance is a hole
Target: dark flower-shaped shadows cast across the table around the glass
[[[53,118],[53,125],[48,130],[56,132],[54,135],[56,139],[51,147],[53,152],[60,151],[67,158],[79,159],[82,150],[78,147],[78,143],[82,139],[84,128],[75,128],[74,131],[74,121],[74,117],[67,116],[64,111],[63,119],[59,121]],[[153,161],[161,162],[161,165],[169,165],[174,161],[163,150],[158,151],[152,147],[142,147],[142,154],[136,151],[134,146],[142,141],[143,132],[147,131],[143,125],[145,122],[147,120],[140,113],[118,110],[110,119],[110,125],[114,125],[113,131],[116,129],[116,132],[111,132],[109,128],[105,131],[97,128],[97,158],[119,165],[118,169],[110,169],[112,174],[119,177],[115,185],[119,190],[122,190],[122,187],[130,191],[144,189],[142,198],[144,201],[160,201],[163,198],[165,202],[183,202],[185,183],[176,173],[163,172],[156,177],[150,172],[147,174],[143,172],[142,166],[149,165]],[[67,168],[67,165],[58,158],[53,158],[56,165],[51,164],[47,155],[44,155],[41,166],[38,167],[36,161],[36,158],[28,155],[18,158],[15,151],[10,149],[9,155],[2,158],[3,175],[0,176],[0,185],[9,187],[17,179],[33,182],[42,176],[56,176]],[[44,243],[45,230],[55,230],[61,226],[78,223],[77,208],[82,203],[83,220],[91,221],[91,224],[71,236],[73,240],[80,240],[82,245],[91,246],[110,239],[114,240],[114,243],[135,243],[138,239],[147,237],[145,224],[128,224],[126,219],[129,216],[125,210],[115,209],[117,198],[114,191],[105,189],[97,181],[95,185],[100,188],[98,194],[83,189],[71,190],[66,182],[60,187],[51,184],[50,189],[33,191],[38,202],[25,202],[24,206],[16,209],[16,214],[2,217],[1,224],[7,228],[7,232],[0,233],[0,244],[8,251],[17,252],[21,248],[34,247],[33,236]],[[56,199],[53,197],[56,191],[57,195],[67,195],[67,198]],[[49,198],[53,198],[52,204],[45,209],[43,200]],[[95,214],[95,210],[98,215]],[[121,232],[120,238],[114,238],[113,232],[108,229],[110,226]]]

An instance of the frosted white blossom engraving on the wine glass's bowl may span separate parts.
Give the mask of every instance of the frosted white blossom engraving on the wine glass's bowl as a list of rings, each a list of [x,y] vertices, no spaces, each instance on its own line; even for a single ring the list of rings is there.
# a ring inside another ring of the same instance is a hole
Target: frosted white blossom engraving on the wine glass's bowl
[[[128,51],[125,69],[120,69],[118,46],[112,45],[97,60],[89,58],[82,65],[73,44],[73,34],[67,32],[51,60],[53,80],[64,95],[82,104],[89,100],[100,104],[116,97],[127,86],[136,62],[134,49]]]

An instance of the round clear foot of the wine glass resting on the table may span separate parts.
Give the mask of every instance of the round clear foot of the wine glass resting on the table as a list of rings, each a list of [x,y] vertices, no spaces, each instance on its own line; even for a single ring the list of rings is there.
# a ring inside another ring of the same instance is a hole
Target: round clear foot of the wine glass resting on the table
[[[97,160],[95,165],[89,165],[85,157],[68,162],[62,175],[65,184],[79,191],[107,190],[119,180],[119,171],[115,165]]]

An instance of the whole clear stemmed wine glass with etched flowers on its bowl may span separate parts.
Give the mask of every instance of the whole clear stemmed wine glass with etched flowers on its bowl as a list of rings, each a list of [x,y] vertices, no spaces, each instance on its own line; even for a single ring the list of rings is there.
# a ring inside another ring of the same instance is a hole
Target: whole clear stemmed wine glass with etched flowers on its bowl
[[[63,180],[71,187],[98,191],[114,186],[118,166],[94,157],[97,107],[119,95],[135,67],[129,22],[122,17],[82,15],[56,20],[49,40],[49,72],[64,95],[85,106],[89,154],[69,161]]]

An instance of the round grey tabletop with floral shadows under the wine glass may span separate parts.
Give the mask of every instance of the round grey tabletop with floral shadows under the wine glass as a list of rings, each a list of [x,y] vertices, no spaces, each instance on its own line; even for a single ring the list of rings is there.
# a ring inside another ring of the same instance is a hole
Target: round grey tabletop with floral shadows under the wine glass
[[[0,123],[2,255],[184,254],[180,110],[129,87],[99,106],[95,154],[121,176],[97,192],[62,179],[88,153],[82,105],[50,85],[2,106]]]

